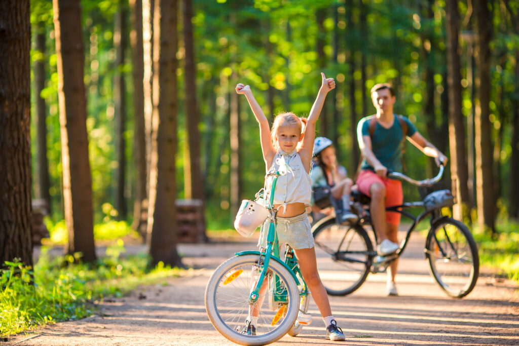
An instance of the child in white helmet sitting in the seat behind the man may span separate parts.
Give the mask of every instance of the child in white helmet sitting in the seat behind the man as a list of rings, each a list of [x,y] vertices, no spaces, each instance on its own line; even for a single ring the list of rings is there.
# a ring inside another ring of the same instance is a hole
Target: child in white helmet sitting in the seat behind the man
[[[317,186],[330,189],[337,222],[356,222],[358,217],[351,213],[349,203],[353,181],[348,178],[346,168],[337,163],[332,141],[326,137],[317,137],[313,145],[313,156],[315,156],[316,165],[310,173],[312,189]],[[312,204],[312,211],[326,213],[326,210],[322,211],[315,204]]]

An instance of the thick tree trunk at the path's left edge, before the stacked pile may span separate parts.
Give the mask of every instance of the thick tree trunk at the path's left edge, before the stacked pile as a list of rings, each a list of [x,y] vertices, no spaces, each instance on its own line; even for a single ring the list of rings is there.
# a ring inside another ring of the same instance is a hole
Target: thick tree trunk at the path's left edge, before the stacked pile
[[[175,153],[177,131],[176,0],[156,0],[154,10],[154,77],[152,157],[149,179],[148,236],[152,266],[182,266],[176,250]]]

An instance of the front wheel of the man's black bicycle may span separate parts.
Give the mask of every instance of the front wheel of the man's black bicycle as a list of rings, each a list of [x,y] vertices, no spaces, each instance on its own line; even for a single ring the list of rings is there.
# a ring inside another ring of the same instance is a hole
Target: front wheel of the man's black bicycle
[[[434,280],[447,295],[462,298],[472,292],[480,261],[465,224],[450,217],[436,220],[427,236],[426,257]]]

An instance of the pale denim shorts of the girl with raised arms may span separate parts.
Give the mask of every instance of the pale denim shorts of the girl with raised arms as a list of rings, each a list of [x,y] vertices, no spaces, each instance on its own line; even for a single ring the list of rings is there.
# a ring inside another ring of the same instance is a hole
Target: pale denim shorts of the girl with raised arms
[[[277,217],[278,225],[276,231],[278,233],[279,245],[289,244],[294,250],[300,248],[312,248],[315,246],[313,242],[310,222],[308,214],[305,212],[301,215],[293,217]],[[270,222],[267,220],[262,227],[258,246],[267,246],[267,233]]]

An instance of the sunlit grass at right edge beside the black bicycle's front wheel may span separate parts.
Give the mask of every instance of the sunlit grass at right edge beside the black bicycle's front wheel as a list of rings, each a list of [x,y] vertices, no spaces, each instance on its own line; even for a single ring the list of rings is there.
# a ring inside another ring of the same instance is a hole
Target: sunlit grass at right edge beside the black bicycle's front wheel
[[[499,274],[519,283],[519,223],[501,219],[497,229],[496,238],[479,230],[473,233],[479,245],[481,265],[497,269]]]

